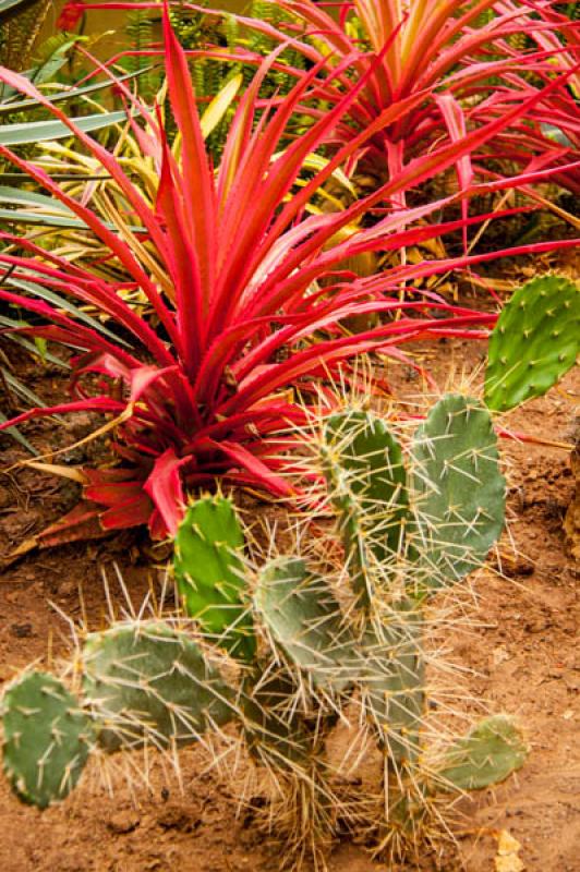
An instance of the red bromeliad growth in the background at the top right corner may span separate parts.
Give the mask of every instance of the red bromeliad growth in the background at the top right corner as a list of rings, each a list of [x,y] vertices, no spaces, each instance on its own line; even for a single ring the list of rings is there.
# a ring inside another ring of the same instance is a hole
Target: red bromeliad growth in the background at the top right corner
[[[324,5],[338,9],[338,16],[326,12]],[[283,10],[289,20],[274,26],[259,19],[238,19],[275,41],[290,40],[311,63],[328,58],[310,93],[325,106],[336,106],[354,83],[365,80],[330,132],[328,144],[340,147],[351,142],[385,109],[402,106],[402,111],[376,129],[353,155],[379,179],[396,175],[409,160],[442,140],[458,141],[467,131],[488,124],[519,105],[522,111],[503,125],[481,153],[458,160],[460,185],[468,189],[473,173],[488,169],[492,158],[494,168],[498,161],[520,169],[530,161],[559,165],[557,181],[580,192],[578,172],[567,169],[570,154],[578,158],[580,150],[573,96],[580,89],[580,77],[575,75],[580,36],[575,24],[553,5],[552,0],[353,0],[328,4],[271,0],[271,7]],[[522,34],[531,47],[517,47],[515,37]],[[258,60],[243,50],[235,57]],[[281,69],[299,78],[303,75],[288,64]],[[558,75],[557,88],[544,99],[529,102]],[[404,106],[420,94],[423,99],[412,108]],[[318,118],[326,109],[307,104],[304,111]]]

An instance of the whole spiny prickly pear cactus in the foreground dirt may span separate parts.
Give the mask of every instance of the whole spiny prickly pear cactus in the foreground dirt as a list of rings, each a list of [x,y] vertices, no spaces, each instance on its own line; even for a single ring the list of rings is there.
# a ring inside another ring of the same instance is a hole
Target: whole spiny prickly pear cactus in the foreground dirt
[[[334,414],[322,431],[321,471],[346,566],[333,564],[322,540],[309,543],[307,560],[279,557],[250,571],[252,556],[242,571],[232,505],[219,496],[193,504],[174,570],[195,635],[160,619],[88,634],[75,664],[82,703],[44,674],[9,688],[4,767],[21,796],[40,806],[65,796],[90,741],[107,751],[167,749],[235,719],[259,777],[273,777],[277,799],[265,816],[301,868],[305,845],[318,858],[341,815],[368,823],[398,858],[416,847],[436,790],[485,787],[522,764],[524,742],[504,715],[430,756],[433,594],[480,566],[503,526],[490,412],[445,396],[414,438],[401,439],[404,452],[367,412]],[[349,754],[370,740],[383,756],[377,814],[372,798],[341,798],[327,753],[333,727],[355,712],[365,738]]]

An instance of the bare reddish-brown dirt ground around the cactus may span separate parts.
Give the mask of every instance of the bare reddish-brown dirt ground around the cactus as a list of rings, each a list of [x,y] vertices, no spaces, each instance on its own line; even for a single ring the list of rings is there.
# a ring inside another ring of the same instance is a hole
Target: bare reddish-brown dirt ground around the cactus
[[[466,343],[427,351],[430,367],[446,383],[452,360],[480,350]],[[56,373],[35,372],[23,364],[27,383],[45,398],[60,389]],[[20,373],[22,376],[22,372]],[[408,385],[408,389],[411,385]],[[569,443],[578,372],[547,397],[508,419],[513,428]],[[48,422],[33,422],[26,434],[40,450],[74,441],[87,422],[69,424],[63,435]],[[22,451],[2,438],[2,468]],[[451,639],[457,662],[472,669],[469,691],[492,711],[519,716],[532,752],[518,775],[495,790],[464,802],[464,820],[456,829],[456,846],[424,856],[423,870],[494,870],[497,835],[508,831],[521,845],[519,858],[528,872],[580,870],[580,743],[578,690],[580,659],[575,651],[578,630],[578,568],[567,558],[563,516],[573,482],[569,452],[561,448],[504,440],[510,485],[510,534],[504,577],[479,574],[476,627]],[[78,462],[78,455],[70,462]],[[0,476],[0,548],[4,557],[74,505],[75,485],[34,470]],[[70,544],[31,553],[10,562],[0,574],[0,682],[37,661],[50,663],[65,650],[68,628],[55,606],[74,621],[83,614],[93,626],[105,620],[101,568],[112,577],[117,561],[134,602],[158,576],[147,559],[143,535],[126,533],[97,542]],[[82,592],[82,596],[80,595]],[[121,602],[121,597],[119,597]],[[0,779],[0,869],[2,872],[240,872],[275,870],[277,855],[247,814],[237,815],[231,789],[207,771],[202,749],[181,759],[181,789],[154,762],[148,788],[132,791],[121,780],[114,797],[95,778],[61,806],[40,813],[14,799]],[[418,868],[404,867],[404,872]],[[509,867],[506,867],[509,868]],[[386,872],[371,860],[364,845],[341,844],[328,861],[330,872]],[[512,867],[512,872],[520,869]]]

